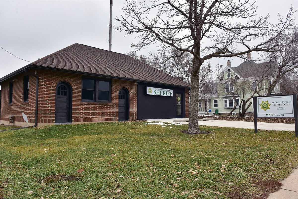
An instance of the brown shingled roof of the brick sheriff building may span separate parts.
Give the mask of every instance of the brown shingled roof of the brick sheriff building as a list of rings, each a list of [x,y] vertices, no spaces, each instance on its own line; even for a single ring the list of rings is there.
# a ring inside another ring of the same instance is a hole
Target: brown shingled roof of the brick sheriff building
[[[86,72],[179,87],[190,87],[190,84],[131,58],[128,55],[83,44],[72,44],[69,47],[34,61],[32,64],[35,66],[51,67],[53,69]]]

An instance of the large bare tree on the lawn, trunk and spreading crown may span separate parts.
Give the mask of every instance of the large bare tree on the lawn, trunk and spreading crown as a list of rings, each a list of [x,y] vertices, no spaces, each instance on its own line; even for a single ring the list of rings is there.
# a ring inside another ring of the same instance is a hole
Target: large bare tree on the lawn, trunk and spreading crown
[[[148,3],[148,4],[147,4]],[[294,22],[293,10],[271,24],[269,15],[257,16],[254,2],[243,0],[151,0],[137,3],[126,0],[124,16],[117,17],[114,28],[136,34],[136,50],[161,42],[162,51],[176,49],[178,56],[193,55],[190,73],[190,112],[188,132],[198,127],[199,70],[213,57],[242,57],[252,51],[271,51],[271,42]],[[245,22],[241,22],[245,21]],[[245,50],[240,50],[242,45]],[[278,45],[278,44],[276,44]],[[175,55],[173,55],[175,56]]]

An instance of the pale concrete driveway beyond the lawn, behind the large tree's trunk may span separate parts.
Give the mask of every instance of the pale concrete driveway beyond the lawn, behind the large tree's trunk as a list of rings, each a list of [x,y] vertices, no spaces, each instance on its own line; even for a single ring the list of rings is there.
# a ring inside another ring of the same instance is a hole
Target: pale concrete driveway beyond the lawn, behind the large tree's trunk
[[[183,118],[188,119],[188,118]],[[170,122],[172,123],[176,118],[173,119],[152,119],[148,121],[159,121],[159,122]],[[227,121],[227,120],[209,120],[209,121],[198,121],[199,125],[214,126],[214,127],[234,127],[243,129],[254,129],[254,122],[245,121]],[[180,122],[182,124],[188,124],[188,122]],[[258,129],[263,130],[275,130],[275,131],[295,131],[295,124],[282,124],[282,123],[267,123],[258,122]]]

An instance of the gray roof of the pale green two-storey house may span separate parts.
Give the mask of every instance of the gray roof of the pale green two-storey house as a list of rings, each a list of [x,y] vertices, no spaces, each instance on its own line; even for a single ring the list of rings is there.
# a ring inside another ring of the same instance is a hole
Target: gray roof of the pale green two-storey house
[[[255,63],[252,60],[243,61],[237,67],[231,67],[231,69],[236,72],[240,77],[248,78],[248,77],[258,77],[261,74],[266,73],[266,76],[273,76],[274,70],[276,67],[276,62],[262,62]]]

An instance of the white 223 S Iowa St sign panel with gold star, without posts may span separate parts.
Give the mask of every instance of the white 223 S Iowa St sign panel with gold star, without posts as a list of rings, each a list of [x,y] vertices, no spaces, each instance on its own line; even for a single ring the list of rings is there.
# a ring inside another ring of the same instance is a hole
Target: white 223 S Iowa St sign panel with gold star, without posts
[[[257,116],[294,118],[293,95],[257,97]]]

